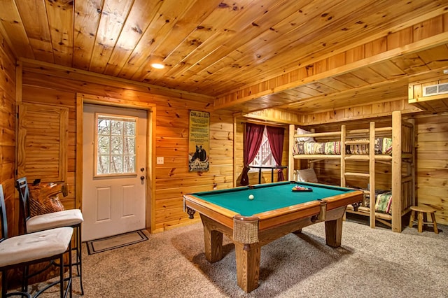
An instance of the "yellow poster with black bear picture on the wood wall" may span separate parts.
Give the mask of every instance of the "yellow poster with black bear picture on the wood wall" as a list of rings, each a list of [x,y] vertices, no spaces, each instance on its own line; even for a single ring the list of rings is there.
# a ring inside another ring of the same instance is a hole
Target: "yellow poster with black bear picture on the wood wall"
[[[190,111],[188,169],[209,171],[210,113]]]

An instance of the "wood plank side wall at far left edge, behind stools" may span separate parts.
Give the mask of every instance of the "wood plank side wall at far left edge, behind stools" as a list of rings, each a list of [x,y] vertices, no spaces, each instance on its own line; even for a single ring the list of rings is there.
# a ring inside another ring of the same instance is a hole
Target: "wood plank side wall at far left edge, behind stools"
[[[0,33],[0,183],[6,201],[8,230],[18,234],[15,202],[15,57]]]

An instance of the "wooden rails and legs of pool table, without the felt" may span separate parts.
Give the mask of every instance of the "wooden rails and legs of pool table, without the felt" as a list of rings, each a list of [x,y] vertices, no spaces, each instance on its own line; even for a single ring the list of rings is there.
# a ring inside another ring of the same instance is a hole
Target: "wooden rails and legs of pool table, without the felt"
[[[237,284],[245,292],[251,292],[258,288],[262,246],[324,221],[325,241],[328,246],[337,248],[341,245],[342,219],[346,206],[360,201],[362,197],[363,192],[360,191],[344,193],[253,216],[239,215],[189,194],[184,196],[183,203],[185,210],[190,208],[200,213],[204,226],[205,257],[209,262],[218,262],[223,258],[223,234],[235,243]],[[249,225],[249,229],[253,228],[248,236],[244,236],[248,229],[246,225]],[[240,229],[244,231],[238,233]]]

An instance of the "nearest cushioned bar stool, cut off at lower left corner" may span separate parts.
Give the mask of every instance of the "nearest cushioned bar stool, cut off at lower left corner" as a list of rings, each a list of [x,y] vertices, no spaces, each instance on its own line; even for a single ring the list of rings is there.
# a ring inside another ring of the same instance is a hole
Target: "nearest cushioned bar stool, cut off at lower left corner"
[[[8,220],[6,218],[6,206],[3,196],[3,186],[0,185],[0,218],[1,218],[1,239],[0,239],[0,271],[1,271],[1,297],[21,296],[31,297],[28,292],[26,282],[22,283],[22,288],[18,292],[8,293],[7,273],[10,269],[25,267],[24,278],[27,267],[44,261],[59,260],[59,281],[54,281],[39,289],[34,297],[38,297],[42,292],[58,285],[60,297],[66,297],[70,292],[71,285],[71,236],[72,227],[59,227],[47,229],[45,231],[24,234],[8,238]],[[64,254],[69,253],[69,277],[64,278]],[[67,282],[64,290],[64,281]]]

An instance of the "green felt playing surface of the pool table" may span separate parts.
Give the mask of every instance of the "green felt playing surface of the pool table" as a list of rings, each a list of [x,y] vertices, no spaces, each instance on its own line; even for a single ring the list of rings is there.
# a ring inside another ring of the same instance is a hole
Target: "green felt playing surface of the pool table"
[[[300,185],[311,188],[311,192],[293,192],[293,187]],[[334,197],[355,190],[346,187],[321,185],[316,183],[281,182],[235,187],[228,190],[196,192],[195,197],[212,204],[227,208],[243,216],[252,216],[266,211],[273,211],[297,204]],[[254,199],[249,199],[249,195]]]

